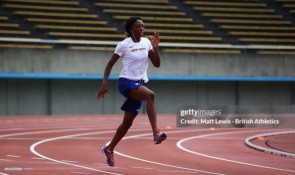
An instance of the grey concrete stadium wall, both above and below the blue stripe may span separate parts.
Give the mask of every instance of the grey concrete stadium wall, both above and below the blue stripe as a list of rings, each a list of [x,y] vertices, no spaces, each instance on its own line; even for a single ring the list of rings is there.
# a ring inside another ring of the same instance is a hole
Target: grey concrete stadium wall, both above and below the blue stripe
[[[112,51],[0,49],[0,73],[103,75]],[[161,67],[148,75],[295,77],[289,55],[160,52]],[[112,69],[119,75],[122,62]],[[0,78],[0,115],[121,114],[124,97],[109,80],[110,97],[96,101],[102,80]],[[160,81],[146,84],[156,94],[158,113],[179,105],[291,105],[295,82]],[[140,113],[145,113],[143,103]]]

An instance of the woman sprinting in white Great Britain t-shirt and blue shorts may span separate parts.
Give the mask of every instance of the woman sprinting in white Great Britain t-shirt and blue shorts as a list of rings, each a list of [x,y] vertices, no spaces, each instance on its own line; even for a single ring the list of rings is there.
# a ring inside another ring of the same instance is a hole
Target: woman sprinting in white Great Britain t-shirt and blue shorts
[[[96,94],[96,100],[100,97],[101,100],[103,100],[105,93],[109,95],[107,80],[112,67],[119,57],[122,57],[123,70],[119,75],[118,89],[120,93],[126,97],[121,107],[121,110],[125,111],[124,118],[123,122],[117,128],[117,132],[111,143],[101,148],[101,151],[106,156],[106,163],[109,166],[115,166],[114,148],[125,136],[136,115],[138,115],[142,100],[147,101],[146,110],[153,129],[154,144],[161,143],[161,141],[165,140],[167,137],[165,133],[160,133],[160,128],[157,127],[155,94],[145,87],[145,83],[148,82],[148,58],[150,58],[155,67],[160,67],[158,44],[161,37],[154,32],[154,39],[152,36],[150,36],[150,40],[148,38],[143,38],[145,26],[141,17],[138,16],[130,17],[126,21],[125,30],[127,38],[118,43],[114,54],[106,65],[101,88]]]

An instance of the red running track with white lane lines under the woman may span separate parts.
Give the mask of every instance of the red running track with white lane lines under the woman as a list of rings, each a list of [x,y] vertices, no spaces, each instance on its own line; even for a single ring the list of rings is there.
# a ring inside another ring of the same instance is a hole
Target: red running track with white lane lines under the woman
[[[121,122],[121,115],[1,117],[0,167],[26,169],[0,174],[295,174],[295,159],[245,145],[249,136],[294,128],[176,128],[175,115],[158,115],[158,126],[168,136],[158,145],[148,117],[137,116],[115,149],[115,167],[109,167],[101,147]],[[284,138],[294,137],[278,137],[272,146],[294,152],[284,147]]]

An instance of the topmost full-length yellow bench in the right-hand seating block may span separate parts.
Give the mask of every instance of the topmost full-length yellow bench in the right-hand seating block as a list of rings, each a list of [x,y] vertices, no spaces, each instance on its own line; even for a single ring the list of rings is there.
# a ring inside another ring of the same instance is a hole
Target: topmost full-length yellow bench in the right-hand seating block
[[[265,3],[244,3],[244,2],[210,2],[210,1],[184,1],[184,4],[214,5],[214,6],[260,6],[266,7]]]

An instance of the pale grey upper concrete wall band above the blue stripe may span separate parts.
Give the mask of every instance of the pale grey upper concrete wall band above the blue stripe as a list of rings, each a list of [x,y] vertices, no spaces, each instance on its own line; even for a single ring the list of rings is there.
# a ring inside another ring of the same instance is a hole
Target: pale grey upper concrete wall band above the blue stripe
[[[161,49],[161,48],[160,48]],[[0,72],[103,75],[113,51],[0,49]],[[161,67],[148,75],[295,77],[291,55],[195,54],[161,52]],[[119,75],[118,60],[112,75]]]

